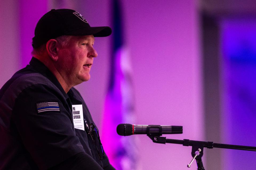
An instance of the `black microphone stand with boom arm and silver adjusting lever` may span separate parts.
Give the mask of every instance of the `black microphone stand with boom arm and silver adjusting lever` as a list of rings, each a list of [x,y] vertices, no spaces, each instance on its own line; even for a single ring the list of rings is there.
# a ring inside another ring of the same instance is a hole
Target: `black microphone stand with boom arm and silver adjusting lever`
[[[256,151],[256,147],[252,146],[241,146],[241,145],[228,145],[222,143],[213,143],[213,142],[204,142],[204,141],[191,141],[189,139],[183,140],[176,140],[176,139],[166,139],[166,137],[162,136],[162,128],[159,128],[159,133],[155,133],[150,131],[150,127],[147,127],[147,136],[154,142],[154,143],[175,143],[175,144],[182,144],[183,146],[192,146],[191,155],[193,157],[192,161],[187,165],[189,168],[191,163],[194,159],[197,162],[197,169],[198,170],[205,170],[203,167],[202,156],[203,156],[203,148],[207,147],[211,148],[226,148],[226,149],[237,149],[237,150],[246,150],[246,151]]]

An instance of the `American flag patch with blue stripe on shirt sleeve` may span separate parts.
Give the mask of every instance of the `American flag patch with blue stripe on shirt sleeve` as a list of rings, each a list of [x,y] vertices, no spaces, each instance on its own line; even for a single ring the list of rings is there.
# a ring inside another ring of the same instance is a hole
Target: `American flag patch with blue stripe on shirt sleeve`
[[[41,102],[37,103],[37,112],[60,112],[59,103],[57,102]]]

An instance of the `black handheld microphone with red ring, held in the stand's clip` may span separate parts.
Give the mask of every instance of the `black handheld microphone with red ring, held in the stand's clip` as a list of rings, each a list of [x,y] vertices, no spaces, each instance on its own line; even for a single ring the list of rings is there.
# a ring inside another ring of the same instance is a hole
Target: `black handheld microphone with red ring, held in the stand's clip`
[[[135,134],[162,135],[162,134],[181,134],[182,126],[167,125],[132,125],[119,124],[117,134],[121,136],[130,136]]]

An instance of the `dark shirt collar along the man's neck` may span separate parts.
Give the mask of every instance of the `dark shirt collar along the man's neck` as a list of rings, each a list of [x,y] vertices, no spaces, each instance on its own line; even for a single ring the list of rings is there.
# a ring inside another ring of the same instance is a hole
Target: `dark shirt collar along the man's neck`
[[[69,98],[54,74],[41,61],[39,61],[37,58],[32,57],[29,65],[32,66],[33,69],[38,71],[40,74],[48,78],[62,92],[63,96],[65,96],[66,99]]]

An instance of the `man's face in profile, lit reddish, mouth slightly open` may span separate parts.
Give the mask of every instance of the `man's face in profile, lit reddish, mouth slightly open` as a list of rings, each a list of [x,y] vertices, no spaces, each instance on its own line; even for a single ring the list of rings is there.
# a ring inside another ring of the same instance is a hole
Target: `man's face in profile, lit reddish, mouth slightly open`
[[[75,86],[90,79],[93,58],[98,56],[93,44],[93,35],[72,36],[69,44],[59,49],[55,67],[68,85]]]

